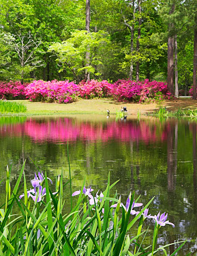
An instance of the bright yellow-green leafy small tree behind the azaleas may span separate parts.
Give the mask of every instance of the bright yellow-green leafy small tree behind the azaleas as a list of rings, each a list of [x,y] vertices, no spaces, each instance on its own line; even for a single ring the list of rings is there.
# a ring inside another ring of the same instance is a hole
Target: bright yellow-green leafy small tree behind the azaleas
[[[95,73],[95,64],[102,65],[100,51],[106,47],[106,44],[110,44],[110,41],[105,36],[104,31],[87,34],[86,30],[76,30],[72,33],[71,38],[50,46],[49,51],[57,53],[57,62],[61,64],[60,71],[65,70],[66,72],[65,78],[70,79],[74,76],[74,79],[79,82],[86,78],[84,75],[85,70],[88,73]],[[87,47],[89,47],[90,53],[89,66],[85,64]]]

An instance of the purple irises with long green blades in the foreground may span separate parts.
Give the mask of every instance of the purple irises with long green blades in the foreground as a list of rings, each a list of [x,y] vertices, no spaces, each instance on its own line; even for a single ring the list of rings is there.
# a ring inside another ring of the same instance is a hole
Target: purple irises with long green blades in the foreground
[[[91,188],[85,188],[84,181],[82,189],[72,193],[78,196],[76,204],[73,203],[70,212],[65,214],[65,204],[72,195],[70,190],[63,192],[63,188],[70,181],[63,185],[61,174],[56,179],[56,191],[52,192],[46,173],[43,175],[40,172],[31,181],[33,190],[28,190],[24,170],[25,163],[11,191],[10,168],[7,168],[6,203],[0,209],[0,255],[151,256],[159,251],[167,255],[166,248],[170,244],[157,248],[157,233],[162,226],[173,224],[166,220],[166,214],[148,215],[148,207],[153,199],[142,207],[133,192],[124,205],[121,196],[118,199],[110,195],[110,190],[118,181],[110,184],[108,175],[106,190],[95,195]],[[23,194],[19,196],[22,175]],[[138,208],[138,212],[134,208]],[[143,240],[147,231],[142,231],[142,224],[146,218],[155,220],[155,230],[153,245],[144,248]],[[135,234],[132,228],[137,223],[138,231]],[[185,244],[179,243],[181,245],[171,256]]]

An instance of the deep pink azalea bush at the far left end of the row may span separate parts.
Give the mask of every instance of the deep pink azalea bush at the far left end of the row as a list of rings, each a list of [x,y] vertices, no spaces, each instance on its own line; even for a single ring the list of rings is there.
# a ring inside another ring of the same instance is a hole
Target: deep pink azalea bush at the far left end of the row
[[[20,81],[0,81],[0,99],[25,99],[26,86]]]

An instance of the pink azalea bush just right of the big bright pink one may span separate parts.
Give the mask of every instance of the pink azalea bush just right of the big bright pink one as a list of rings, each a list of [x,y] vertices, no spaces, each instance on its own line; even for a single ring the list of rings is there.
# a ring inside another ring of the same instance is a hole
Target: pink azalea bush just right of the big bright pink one
[[[78,85],[80,88],[80,97],[82,99],[104,98],[108,97],[112,84],[108,81],[97,81],[91,79],[90,81],[80,81]]]

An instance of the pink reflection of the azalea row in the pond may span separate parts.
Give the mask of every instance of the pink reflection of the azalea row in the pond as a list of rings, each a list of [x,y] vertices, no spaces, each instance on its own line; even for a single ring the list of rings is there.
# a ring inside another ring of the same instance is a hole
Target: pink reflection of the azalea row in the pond
[[[121,140],[156,142],[166,140],[169,126],[161,128],[160,123],[141,120],[127,122],[91,123],[78,122],[71,118],[48,120],[29,119],[26,123],[3,125],[0,136],[22,136],[25,134],[34,142],[67,142],[76,140]]]

